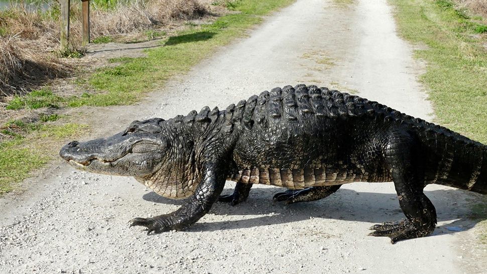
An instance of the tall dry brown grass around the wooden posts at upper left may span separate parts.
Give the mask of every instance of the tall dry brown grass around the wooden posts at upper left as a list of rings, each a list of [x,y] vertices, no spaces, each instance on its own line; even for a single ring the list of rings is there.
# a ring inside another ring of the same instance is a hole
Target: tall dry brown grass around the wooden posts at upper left
[[[71,7],[70,44],[81,48],[81,5]],[[56,4],[54,4],[56,5]],[[65,76],[72,66],[59,58],[60,29],[56,13],[29,12],[23,5],[0,14],[0,102],[48,79]],[[54,9],[59,6],[54,7]],[[113,10],[92,9],[91,38],[156,28],[175,20],[201,17],[207,12],[198,0],[134,0]]]

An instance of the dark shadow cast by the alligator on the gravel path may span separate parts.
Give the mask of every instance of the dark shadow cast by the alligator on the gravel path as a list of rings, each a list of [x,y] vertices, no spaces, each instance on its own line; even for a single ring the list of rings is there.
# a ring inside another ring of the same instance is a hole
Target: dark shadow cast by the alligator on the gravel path
[[[283,191],[283,189],[254,188],[246,202],[234,207],[227,203],[218,202],[212,207],[209,214],[227,215],[230,220],[199,221],[193,224],[188,231],[232,230],[275,224],[291,224],[310,218],[372,223],[397,221],[404,218],[404,214],[399,207],[397,195],[392,193],[357,192],[342,188],[335,194],[319,201],[292,205],[273,204],[272,197],[279,191]],[[226,188],[224,193],[231,193],[231,189]],[[425,191],[425,194],[435,205],[438,221],[447,222],[437,226],[433,235],[456,233],[457,231],[446,229],[446,227],[450,226],[460,226],[462,230],[467,230],[479,221],[467,218],[470,208],[469,203],[465,200],[472,197],[464,191],[456,189],[434,190]],[[145,194],[143,199],[155,203],[173,205],[184,203],[184,200],[164,198],[154,192]],[[238,215],[241,218],[235,217]],[[249,218],[249,216],[256,217]]]

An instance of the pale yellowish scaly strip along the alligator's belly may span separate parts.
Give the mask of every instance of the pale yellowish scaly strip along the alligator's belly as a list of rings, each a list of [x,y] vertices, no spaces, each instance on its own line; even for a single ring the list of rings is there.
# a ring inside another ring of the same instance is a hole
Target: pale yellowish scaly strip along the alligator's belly
[[[238,183],[264,184],[289,189],[342,185],[368,181],[367,173],[347,168],[251,168],[234,172],[228,179]]]

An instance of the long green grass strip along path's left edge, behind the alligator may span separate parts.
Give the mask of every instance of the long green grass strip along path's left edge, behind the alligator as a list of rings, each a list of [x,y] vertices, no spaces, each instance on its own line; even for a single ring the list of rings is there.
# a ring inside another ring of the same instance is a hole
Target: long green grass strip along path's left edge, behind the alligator
[[[293,0],[232,1],[238,14],[218,18],[214,23],[190,26],[176,36],[163,40],[164,47],[147,50],[147,57],[123,59],[116,67],[99,69],[88,80],[96,92],[71,98],[71,107],[131,104],[160,86],[171,76],[188,71],[212,54],[217,47],[245,35],[250,27],[262,22],[259,16],[293,3]],[[114,62],[114,60],[112,61]]]

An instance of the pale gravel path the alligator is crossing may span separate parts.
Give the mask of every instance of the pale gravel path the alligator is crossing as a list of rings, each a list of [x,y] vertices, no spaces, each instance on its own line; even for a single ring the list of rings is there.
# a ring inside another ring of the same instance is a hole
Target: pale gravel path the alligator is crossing
[[[91,108],[103,128],[134,119],[172,117],[203,105],[226,107],[262,90],[301,82],[359,90],[359,95],[431,119],[416,81],[411,49],[397,37],[385,1],[349,8],[298,1],[135,106]],[[88,139],[88,138],[87,138]],[[257,186],[236,207],[217,203],[191,229],[146,236],[127,221],[167,213],[179,201],[161,198],[132,178],[74,171],[59,161],[29,180],[22,196],[0,199],[0,272],[261,273],[481,272],[466,219],[477,196],[429,186],[438,212],[433,236],[391,245],[368,228],[399,220],[393,184],[355,183],[317,202],[272,205],[279,189]],[[233,187],[228,183],[225,192]],[[446,229],[462,228],[461,232]]]

